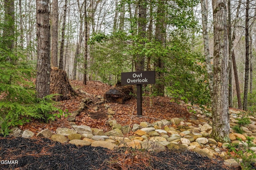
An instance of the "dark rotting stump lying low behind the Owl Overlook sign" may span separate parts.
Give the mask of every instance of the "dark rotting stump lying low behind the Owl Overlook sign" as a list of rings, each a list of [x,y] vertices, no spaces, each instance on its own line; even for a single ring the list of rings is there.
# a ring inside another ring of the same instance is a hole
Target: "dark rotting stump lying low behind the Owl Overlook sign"
[[[104,99],[106,101],[123,104],[124,101],[131,99],[134,92],[132,85],[124,85],[109,89],[104,93]]]

